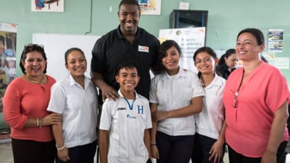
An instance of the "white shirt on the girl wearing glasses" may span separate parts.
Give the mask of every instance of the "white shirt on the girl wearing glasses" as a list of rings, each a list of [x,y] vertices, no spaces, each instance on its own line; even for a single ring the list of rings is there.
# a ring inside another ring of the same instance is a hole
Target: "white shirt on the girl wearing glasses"
[[[196,132],[218,140],[224,121],[222,94],[226,80],[215,74],[209,86],[204,88],[204,106],[202,112],[195,115]]]

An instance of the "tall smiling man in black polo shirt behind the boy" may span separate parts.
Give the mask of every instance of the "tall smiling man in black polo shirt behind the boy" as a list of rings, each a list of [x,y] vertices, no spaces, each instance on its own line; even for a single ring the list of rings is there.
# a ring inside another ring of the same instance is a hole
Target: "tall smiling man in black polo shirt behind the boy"
[[[160,42],[156,37],[138,27],[141,9],[136,0],[119,3],[119,26],[97,40],[93,48],[91,75],[100,90],[99,102],[106,98],[117,99],[119,84],[115,81],[116,67],[121,61],[133,59],[139,66],[142,80],[135,88],[149,99],[150,69],[157,63]]]

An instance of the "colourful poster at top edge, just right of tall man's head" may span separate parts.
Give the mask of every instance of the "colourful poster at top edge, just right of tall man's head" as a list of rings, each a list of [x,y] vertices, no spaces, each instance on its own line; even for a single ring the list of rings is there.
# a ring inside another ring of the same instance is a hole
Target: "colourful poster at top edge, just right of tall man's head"
[[[142,15],[160,15],[161,0],[136,0],[141,8]]]

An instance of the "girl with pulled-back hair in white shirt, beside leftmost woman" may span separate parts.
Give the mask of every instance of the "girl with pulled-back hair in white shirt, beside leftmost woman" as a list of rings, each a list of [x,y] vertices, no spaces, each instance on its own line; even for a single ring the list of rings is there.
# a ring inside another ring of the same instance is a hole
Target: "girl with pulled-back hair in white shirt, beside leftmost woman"
[[[52,86],[48,111],[61,115],[52,126],[59,162],[93,163],[97,148],[97,90],[84,75],[86,57],[79,48],[65,53],[68,75]]]

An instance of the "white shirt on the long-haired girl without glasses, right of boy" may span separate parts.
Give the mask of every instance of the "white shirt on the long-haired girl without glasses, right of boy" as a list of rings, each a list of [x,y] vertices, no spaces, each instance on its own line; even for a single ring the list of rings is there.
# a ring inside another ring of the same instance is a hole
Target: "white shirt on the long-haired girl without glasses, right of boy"
[[[195,73],[180,68],[174,77],[166,72],[153,77],[149,96],[150,102],[157,104],[158,111],[173,111],[189,106],[194,97],[204,96],[204,89]],[[158,123],[157,131],[171,136],[194,135],[195,117],[164,119]]]

